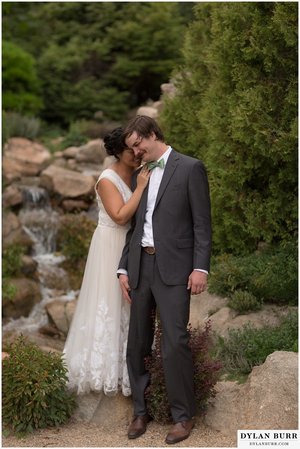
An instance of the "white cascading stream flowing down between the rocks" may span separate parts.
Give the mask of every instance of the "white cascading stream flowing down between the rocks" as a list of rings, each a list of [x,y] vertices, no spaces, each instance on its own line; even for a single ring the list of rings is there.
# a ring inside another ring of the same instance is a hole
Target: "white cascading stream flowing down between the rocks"
[[[38,285],[42,301],[35,304],[28,317],[6,319],[2,325],[4,333],[15,330],[20,334],[37,331],[41,326],[49,324],[45,304],[53,299],[71,301],[78,295],[78,291],[70,289],[68,275],[59,266],[65,256],[56,253],[57,229],[62,214],[49,206],[48,194],[44,189],[24,186],[22,195],[24,207],[18,218],[34,242],[30,257],[38,264]]]

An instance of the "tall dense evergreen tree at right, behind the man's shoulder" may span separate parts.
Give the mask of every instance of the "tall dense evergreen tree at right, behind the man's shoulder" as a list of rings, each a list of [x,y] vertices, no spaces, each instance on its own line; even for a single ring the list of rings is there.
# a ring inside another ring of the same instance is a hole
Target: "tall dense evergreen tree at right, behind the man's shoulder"
[[[195,9],[162,126],[208,169],[214,251],[252,251],[297,229],[298,4]]]

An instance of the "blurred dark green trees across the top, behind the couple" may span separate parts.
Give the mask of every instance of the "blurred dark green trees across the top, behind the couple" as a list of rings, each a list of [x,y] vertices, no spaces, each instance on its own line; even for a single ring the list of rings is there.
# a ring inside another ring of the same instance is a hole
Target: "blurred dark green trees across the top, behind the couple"
[[[123,118],[157,100],[183,61],[194,2],[3,2],[3,37],[36,58],[41,115],[68,124]]]

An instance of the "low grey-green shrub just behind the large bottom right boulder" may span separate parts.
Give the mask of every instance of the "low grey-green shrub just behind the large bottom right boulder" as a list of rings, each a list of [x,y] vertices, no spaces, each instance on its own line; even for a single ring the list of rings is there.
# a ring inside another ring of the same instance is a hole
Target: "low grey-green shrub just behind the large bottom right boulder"
[[[298,312],[290,310],[281,314],[280,326],[254,329],[249,322],[242,329],[229,329],[226,338],[219,335],[215,356],[221,358],[225,370],[251,373],[253,366],[262,365],[274,351],[298,352],[297,339]]]

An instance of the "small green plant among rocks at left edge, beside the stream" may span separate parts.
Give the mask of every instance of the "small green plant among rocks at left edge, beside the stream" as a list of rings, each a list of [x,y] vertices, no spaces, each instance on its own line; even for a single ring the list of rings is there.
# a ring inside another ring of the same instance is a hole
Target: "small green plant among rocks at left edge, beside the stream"
[[[2,298],[12,299],[17,293],[17,286],[8,281],[11,277],[19,277],[22,267],[21,254],[25,254],[26,248],[18,247],[13,243],[2,247]]]

